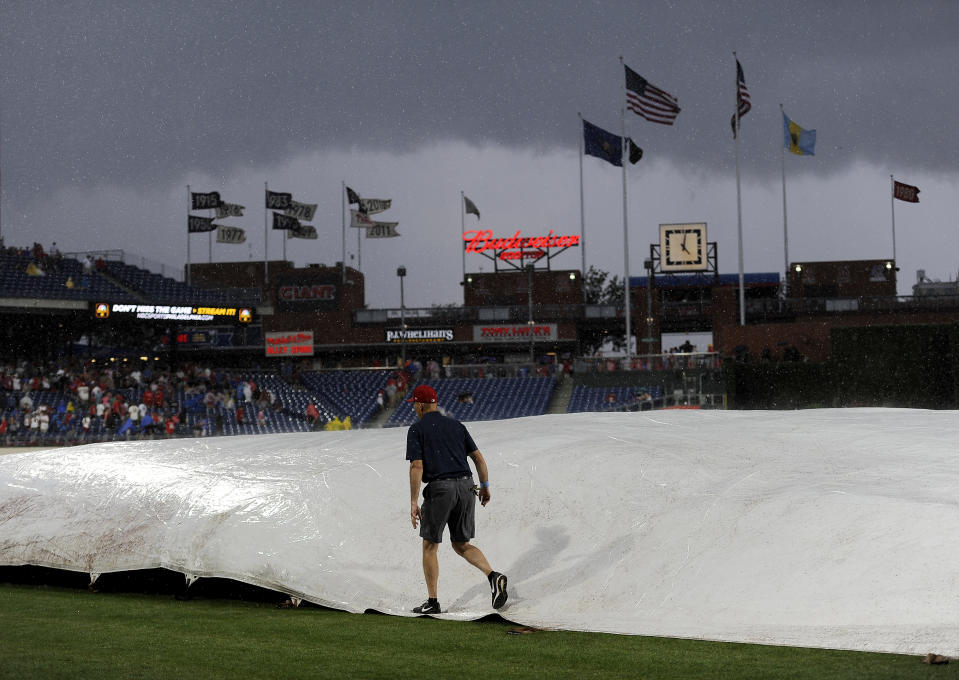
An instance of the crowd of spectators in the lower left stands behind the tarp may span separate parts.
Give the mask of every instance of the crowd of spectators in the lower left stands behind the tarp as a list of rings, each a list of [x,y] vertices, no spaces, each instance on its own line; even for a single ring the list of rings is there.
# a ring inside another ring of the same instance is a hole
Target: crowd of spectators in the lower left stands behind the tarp
[[[247,375],[190,363],[175,370],[79,359],[0,365],[5,445],[224,434],[243,424],[265,429],[279,412],[302,429],[324,424],[289,412],[274,390]]]

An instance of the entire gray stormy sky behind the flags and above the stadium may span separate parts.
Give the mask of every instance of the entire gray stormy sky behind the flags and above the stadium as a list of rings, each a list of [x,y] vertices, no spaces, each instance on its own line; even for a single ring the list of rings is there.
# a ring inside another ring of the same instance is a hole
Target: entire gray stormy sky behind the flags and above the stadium
[[[753,109],[740,140],[747,271],[782,271],[779,104],[818,133],[787,154],[790,260],[892,255],[959,270],[959,3],[917,2],[20,2],[0,4],[2,234],[8,244],[119,248],[169,267],[187,257],[187,191],[246,206],[247,243],[215,261],[280,257],[263,186],[320,204],[298,265],[342,257],[341,182],[392,198],[402,237],[348,230],[371,306],[461,299],[459,192],[496,235],[580,232],[578,112],[619,133],[622,56],[679,99],[672,127],[628,113],[645,149],[629,168],[630,269],[661,222],[705,221],[737,271],[737,51]],[[622,273],[620,170],[584,161],[586,259]],[[264,243],[266,240],[266,244]],[[207,261],[206,235],[190,237]],[[579,268],[570,249],[554,267]],[[488,271],[471,255],[468,270]]]

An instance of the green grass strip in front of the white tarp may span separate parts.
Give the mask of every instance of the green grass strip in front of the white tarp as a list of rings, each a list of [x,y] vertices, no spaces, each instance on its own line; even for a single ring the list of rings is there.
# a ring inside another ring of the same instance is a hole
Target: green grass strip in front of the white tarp
[[[4,583],[0,678],[959,678],[912,656],[514,628]]]

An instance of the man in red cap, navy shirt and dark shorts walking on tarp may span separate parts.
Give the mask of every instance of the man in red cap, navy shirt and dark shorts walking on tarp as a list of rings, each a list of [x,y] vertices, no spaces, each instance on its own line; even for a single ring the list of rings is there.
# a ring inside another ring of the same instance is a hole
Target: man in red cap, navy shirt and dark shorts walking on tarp
[[[429,599],[413,609],[416,614],[440,614],[436,599],[439,580],[437,552],[443,531],[450,528],[450,543],[456,554],[486,574],[492,592],[493,608],[506,604],[506,575],[493,571],[482,551],[470,544],[476,535],[476,497],[483,507],[490,501],[489,472],[486,460],[461,422],[442,415],[436,404],[436,390],[420,385],[413,390],[413,410],[419,421],[410,425],[406,435],[406,459],[410,461],[410,521],[420,524],[423,538],[423,576]],[[475,487],[468,458],[476,466],[480,484]],[[420,484],[423,507],[420,508]],[[474,496],[474,491],[476,496]]]

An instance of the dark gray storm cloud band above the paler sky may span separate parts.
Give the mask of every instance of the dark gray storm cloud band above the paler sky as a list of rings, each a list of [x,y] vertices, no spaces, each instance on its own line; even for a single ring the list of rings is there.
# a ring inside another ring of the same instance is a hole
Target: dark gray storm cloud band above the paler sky
[[[5,2],[0,13],[3,183],[18,202],[306,151],[574,148],[577,111],[619,129],[620,55],[683,109],[674,128],[627,118],[647,159],[726,168],[734,49],[753,97],[747,172],[778,164],[779,102],[818,129],[826,167],[956,168],[954,2]]]

